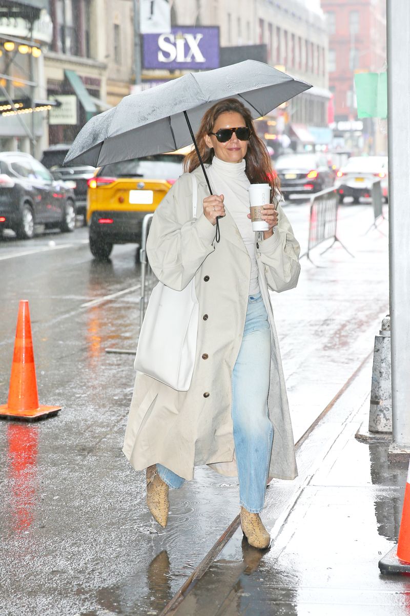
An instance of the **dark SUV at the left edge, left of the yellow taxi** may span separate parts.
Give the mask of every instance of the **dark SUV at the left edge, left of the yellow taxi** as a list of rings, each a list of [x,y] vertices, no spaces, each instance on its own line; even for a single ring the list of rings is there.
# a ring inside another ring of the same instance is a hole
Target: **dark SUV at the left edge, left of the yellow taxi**
[[[0,153],[0,231],[12,229],[30,239],[34,224],[73,231],[76,225],[74,192],[30,154]]]

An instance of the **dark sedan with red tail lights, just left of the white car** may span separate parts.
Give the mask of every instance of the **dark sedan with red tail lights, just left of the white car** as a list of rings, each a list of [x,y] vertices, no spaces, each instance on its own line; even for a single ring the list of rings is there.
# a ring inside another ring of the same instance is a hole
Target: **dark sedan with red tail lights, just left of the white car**
[[[321,153],[284,154],[277,158],[274,169],[284,198],[310,195],[333,186],[333,169]]]

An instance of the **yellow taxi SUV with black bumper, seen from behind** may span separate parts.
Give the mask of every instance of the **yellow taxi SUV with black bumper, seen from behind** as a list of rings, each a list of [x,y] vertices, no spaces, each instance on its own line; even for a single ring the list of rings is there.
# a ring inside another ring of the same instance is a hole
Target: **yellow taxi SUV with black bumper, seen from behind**
[[[181,175],[184,155],[190,149],[143,156],[97,169],[88,180],[87,195],[93,256],[108,259],[114,244],[141,243],[144,216],[156,209]]]

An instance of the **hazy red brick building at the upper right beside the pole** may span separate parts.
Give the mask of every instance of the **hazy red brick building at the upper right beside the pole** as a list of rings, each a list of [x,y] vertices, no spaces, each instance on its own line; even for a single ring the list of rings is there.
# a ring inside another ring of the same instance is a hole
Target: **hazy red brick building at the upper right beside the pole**
[[[352,150],[387,153],[380,123],[358,120],[354,88],[355,73],[386,70],[385,0],[321,0],[321,6],[328,22],[336,138]]]

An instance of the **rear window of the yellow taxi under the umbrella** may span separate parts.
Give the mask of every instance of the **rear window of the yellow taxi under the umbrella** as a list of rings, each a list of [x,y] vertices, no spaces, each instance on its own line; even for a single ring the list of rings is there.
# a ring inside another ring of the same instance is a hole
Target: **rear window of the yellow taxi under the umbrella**
[[[184,156],[178,154],[156,154],[106,164],[99,169],[98,176],[147,177],[149,179],[176,179],[183,172]]]

